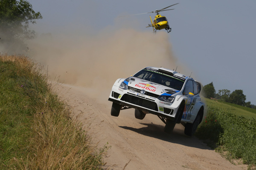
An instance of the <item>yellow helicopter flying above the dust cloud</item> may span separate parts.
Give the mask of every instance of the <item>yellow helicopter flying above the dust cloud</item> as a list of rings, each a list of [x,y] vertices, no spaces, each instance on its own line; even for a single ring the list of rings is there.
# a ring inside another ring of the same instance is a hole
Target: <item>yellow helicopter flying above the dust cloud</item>
[[[177,5],[179,3],[175,3],[171,6],[174,6],[174,5]],[[168,23],[168,20],[165,16],[162,16],[159,14],[159,12],[162,12],[162,11],[169,11],[169,10],[173,10],[173,9],[167,9],[171,6],[167,6],[166,8],[163,8],[163,9],[159,9],[159,10],[155,10],[155,11],[152,11],[152,12],[146,12],[146,13],[142,13],[142,14],[148,14],[148,13],[156,13],[156,16],[154,18],[154,21],[152,22],[152,19],[151,19],[151,16],[149,15],[150,17],[150,20],[151,20],[151,24],[148,24],[148,26],[146,27],[153,27],[153,32],[156,33],[157,30],[161,30],[161,29],[166,29],[166,31],[169,33],[172,31],[172,29],[170,28],[169,26],[169,23]],[[133,15],[140,15],[140,14],[133,14]],[[125,15],[125,16],[131,16],[131,15]],[[124,17],[124,16],[120,16],[120,17]]]

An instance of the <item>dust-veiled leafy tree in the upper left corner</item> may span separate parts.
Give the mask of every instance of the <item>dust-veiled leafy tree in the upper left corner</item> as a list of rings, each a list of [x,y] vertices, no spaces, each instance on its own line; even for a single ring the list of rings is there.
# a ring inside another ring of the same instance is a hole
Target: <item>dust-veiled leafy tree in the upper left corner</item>
[[[25,40],[35,37],[35,31],[29,29],[29,24],[42,18],[26,0],[0,0],[0,45],[7,52],[26,47]]]

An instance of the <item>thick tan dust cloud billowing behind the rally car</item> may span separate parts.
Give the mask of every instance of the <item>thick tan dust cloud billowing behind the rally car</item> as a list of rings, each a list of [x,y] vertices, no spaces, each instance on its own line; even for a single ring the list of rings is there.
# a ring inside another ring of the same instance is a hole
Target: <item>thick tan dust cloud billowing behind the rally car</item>
[[[48,69],[50,79],[108,96],[116,79],[128,78],[146,66],[175,69],[168,37],[166,32],[154,35],[134,29],[93,36],[48,33],[29,42],[28,55]]]

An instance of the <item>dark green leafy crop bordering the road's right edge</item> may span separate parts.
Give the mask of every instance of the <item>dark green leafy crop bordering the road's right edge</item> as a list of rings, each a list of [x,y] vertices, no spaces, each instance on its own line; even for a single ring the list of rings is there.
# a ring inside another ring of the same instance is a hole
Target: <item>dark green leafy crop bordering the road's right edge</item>
[[[256,165],[255,113],[206,99],[207,116],[196,136],[226,158],[241,159],[249,169]],[[244,116],[245,115],[245,116]]]

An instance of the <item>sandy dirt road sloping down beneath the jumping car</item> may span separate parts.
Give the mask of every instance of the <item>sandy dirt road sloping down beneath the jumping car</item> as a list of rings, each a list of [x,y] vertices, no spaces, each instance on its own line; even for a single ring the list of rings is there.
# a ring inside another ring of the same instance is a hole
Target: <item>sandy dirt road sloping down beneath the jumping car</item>
[[[231,164],[219,153],[196,137],[184,135],[181,124],[171,134],[163,132],[164,124],[148,114],[143,120],[134,117],[134,109],[122,110],[119,117],[110,115],[108,93],[67,84],[55,86],[58,95],[81,113],[82,123],[90,123],[95,143],[108,143],[110,170],[246,170],[241,164]],[[95,97],[91,94],[95,92]]]

